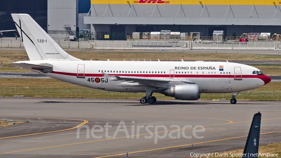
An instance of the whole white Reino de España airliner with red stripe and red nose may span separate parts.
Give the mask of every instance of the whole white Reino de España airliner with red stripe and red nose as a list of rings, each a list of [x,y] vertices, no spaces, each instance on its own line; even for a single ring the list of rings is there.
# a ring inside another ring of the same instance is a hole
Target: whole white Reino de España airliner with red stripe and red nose
[[[17,67],[57,80],[104,91],[145,92],[141,103],[154,103],[152,93],[179,100],[198,100],[201,93],[237,92],[271,81],[259,69],[231,62],[82,61],[61,47],[28,14],[12,14],[30,61]]]

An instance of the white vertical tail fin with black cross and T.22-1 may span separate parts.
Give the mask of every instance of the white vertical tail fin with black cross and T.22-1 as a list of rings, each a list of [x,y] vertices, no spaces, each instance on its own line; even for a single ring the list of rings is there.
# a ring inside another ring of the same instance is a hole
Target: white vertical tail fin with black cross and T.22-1
[[[80,60],[65,52],[28,14],[12,14],[29,60]]]

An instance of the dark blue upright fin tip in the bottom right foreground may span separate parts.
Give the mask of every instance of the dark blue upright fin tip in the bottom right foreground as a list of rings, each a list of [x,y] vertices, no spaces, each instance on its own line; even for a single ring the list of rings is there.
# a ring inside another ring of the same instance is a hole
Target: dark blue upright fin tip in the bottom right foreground
[[[258,112],[254,114],[253,121],[250,127],[250,131],[247,137],[243,155],[245,157],[257,158],[259,151],[259,133],[260,133],[260,122],[261,122],[261,113]],[[242,157],[244,158],[244,157]]]

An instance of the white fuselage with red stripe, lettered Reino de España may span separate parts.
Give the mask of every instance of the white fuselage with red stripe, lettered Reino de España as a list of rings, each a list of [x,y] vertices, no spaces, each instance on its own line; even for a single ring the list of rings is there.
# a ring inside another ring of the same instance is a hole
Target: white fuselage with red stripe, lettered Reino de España
[[[173,82],[136,83],[111,81],[102,72],[110,76],[159,77],[195,82],[199,93],[227,93],[247,91],[266,84],[261,76],[253,74],[260,71],[255,67],[231,62],[150,62],[150,61],[59,61],[37,60],[25,63],[48,63],[53,72],[43,73],[61,81],[80,86],[118,92],[145,92],[146,85],[157,87],[177,85]]]

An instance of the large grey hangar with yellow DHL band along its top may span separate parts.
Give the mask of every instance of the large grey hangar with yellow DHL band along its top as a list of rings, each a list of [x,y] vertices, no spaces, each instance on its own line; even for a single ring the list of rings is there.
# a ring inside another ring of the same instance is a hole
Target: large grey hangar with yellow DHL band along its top
[[[281,33],[278,0],[91,0],[84,17],[96,36],[100,32],[202,32],[225,36],[249,32]]]

